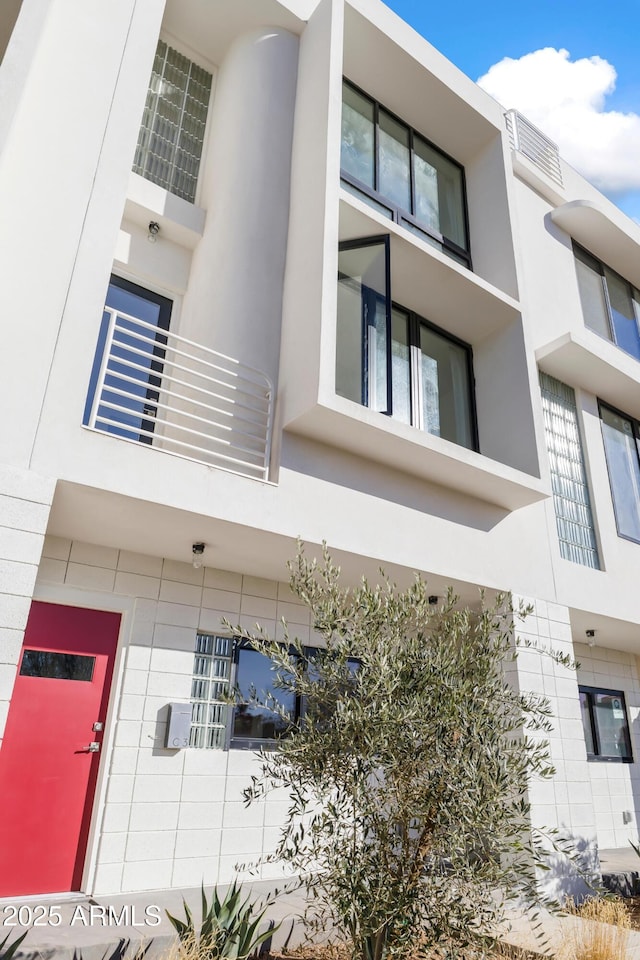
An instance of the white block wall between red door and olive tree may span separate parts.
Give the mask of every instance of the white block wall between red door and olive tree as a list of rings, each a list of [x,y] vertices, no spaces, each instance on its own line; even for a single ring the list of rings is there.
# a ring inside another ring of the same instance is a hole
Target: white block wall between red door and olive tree
[[[54,566],[51,566],[54,564]],[[309,614],[288,585],[47,537],[38,585],[136,597],[115,705],[113,748],[93,891],[96,894],[230,880],[273,849],[282,795],[243,802],[256,772],[249,751],[165,750],[167,703],[188,701],[198,629],[220,620],[275,623],[309,640]],[[87,605],[90,605],[88,602]],[[0,696],[2,695],[0,670]],[[114,680],[114,689],[116,681]],[[267,865],[258,875],[279,873]],[[255,875],[254,875],[255,876]]]

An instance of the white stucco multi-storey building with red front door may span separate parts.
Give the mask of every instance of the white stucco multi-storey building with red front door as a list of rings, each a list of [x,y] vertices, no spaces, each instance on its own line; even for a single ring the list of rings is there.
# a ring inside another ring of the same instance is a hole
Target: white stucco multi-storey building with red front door
[[[0,54],[0,897],[272,848],[221,618],[313,642],[297,536],[530,601],[534,818],[635,839],[640,228],[378,0],[11,0]]]

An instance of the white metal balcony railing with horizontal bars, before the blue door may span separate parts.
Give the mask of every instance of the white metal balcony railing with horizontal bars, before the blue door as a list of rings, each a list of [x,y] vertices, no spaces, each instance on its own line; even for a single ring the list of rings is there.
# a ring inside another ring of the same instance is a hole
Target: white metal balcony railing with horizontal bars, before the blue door
[[[265,374],[109,307],[100,341],[88,427],[267,479],[273,389]]]

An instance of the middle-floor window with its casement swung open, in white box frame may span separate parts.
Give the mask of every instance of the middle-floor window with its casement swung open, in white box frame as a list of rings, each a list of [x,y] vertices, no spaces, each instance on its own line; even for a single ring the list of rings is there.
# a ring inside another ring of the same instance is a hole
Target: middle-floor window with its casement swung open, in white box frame
[[[470,347],[391,301],[389,238],[340,245],[336,393],[477,449]]]

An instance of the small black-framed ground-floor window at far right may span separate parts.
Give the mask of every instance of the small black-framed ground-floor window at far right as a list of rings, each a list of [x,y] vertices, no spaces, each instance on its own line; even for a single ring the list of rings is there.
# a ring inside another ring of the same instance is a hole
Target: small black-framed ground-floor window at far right
[[[631,739],[624,693],[580,687],[582,726],[589,760],[631,763]]]

